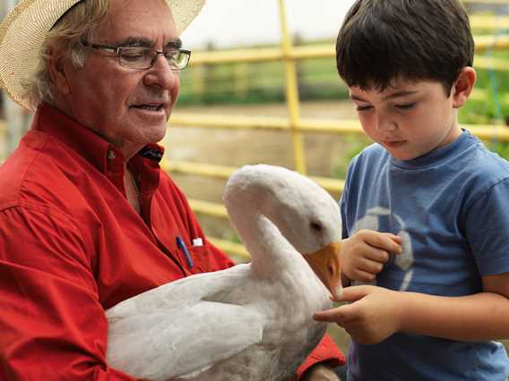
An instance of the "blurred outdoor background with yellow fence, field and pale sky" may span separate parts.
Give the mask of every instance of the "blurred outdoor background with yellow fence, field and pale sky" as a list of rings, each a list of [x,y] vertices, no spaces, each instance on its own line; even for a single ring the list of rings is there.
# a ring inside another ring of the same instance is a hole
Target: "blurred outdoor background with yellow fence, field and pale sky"
[[[15,0],[0,0],[0,13]],[[334,43],[352,0],[208,0],[182,36],[193,50],[161,143],[163,165],[185,191],[211,241],[247,261],[221,202],[238,166],[267,163],[307,174],[339,199],[351,157],[370,141],[335,69]],[[462,126],[509,158],[509,0],[465,0],[479,80]],[[0,104],[0,162],[31,115]],[[332,327],[344,351],[348,336]]]

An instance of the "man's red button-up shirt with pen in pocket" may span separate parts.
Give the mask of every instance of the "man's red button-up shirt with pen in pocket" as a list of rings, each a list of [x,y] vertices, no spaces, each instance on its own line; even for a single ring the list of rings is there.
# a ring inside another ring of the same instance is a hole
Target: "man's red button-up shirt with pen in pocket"
[[[106,363],[104,310],[233,265],[203,236],[184,194],[160,170],[161,156],[149,146],[128,163],[139,216],[125,197],[122,153],[39,106],[0,167],[0,379],[132,380]],[[193,246],[195,238],[203,246]],[[328,336],[298,373],[324,360],[344,360]]]

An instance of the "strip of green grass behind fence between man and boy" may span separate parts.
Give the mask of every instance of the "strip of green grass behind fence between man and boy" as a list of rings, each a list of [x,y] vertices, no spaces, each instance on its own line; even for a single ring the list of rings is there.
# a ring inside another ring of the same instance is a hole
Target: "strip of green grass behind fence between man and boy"
[[[285,101],[284,63],[224,63],[189,67],[181,76],[179,105],[259,104]],[[346,98],[332,58],[298,63],[301,100]]]

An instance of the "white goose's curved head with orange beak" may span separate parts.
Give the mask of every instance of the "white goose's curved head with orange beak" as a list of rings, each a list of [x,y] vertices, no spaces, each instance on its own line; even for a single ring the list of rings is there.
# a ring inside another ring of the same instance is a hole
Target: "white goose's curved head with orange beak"
[[[231,190],[235,188],[235,190]],[[239,193],[242,193],[242,196]],[[335,299],[341,296],[341,213],[338,203],[302,174],[273,165],[246,165],[227,183],[229,198],[255,205],[300,252]]]

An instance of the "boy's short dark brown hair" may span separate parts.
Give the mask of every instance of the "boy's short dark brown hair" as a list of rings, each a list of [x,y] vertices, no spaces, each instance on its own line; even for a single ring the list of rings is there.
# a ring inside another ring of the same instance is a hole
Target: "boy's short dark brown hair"
[[[357,0],[336,42],[348,86],[384,90],[398,77],[436,80],[447,97],[473,63],[469,17],[459,0]]]

